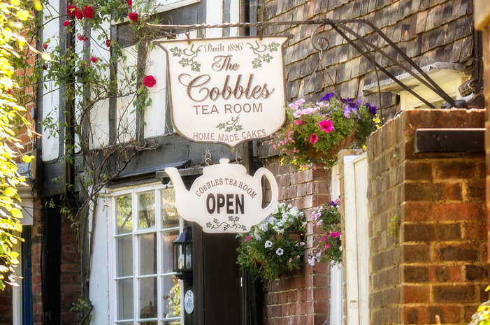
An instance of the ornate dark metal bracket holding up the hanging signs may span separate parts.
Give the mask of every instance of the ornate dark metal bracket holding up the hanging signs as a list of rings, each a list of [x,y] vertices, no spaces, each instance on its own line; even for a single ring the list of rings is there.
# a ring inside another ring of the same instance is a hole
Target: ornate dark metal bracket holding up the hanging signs
[[[419,82],[421,82],[422,85],[426,86],[428,89],[431,89],[435,94],[440,96],[441,99],[444,101],[447,101],[450,106],[452,107],[466,107],[466,103],[460,103],[459,106],[457,103],[454,101],[454,99],[451,98],[442,88],[432,79],[430,78],[427,73],[425,73],[420,66],[418,66],[408,55],[406,55],[401,48],[394,43],[394,41],[391,41],[391,39],[384,34],[381,29],[375,26],[372,22],[368,20],[362,20],[362,19],[350,19],[350,20],[331,20],[331,19],[316,19],[316,20],[302,20],[302,21],[291,21],[291,22],[240,22],[240,23],[223,23],[223,24],[191,24],[191,25],[175,25],[175,24],[150,24],[146,22],[146,18],[149,17],[150,15],[145,14],[143,15],[143,22],[147,25],[147,27],[151,28],[157,28],[157,29],[164,29],[164,30],[170,30],[170,31],[185,31],[185,33],[189,33],[190,30],[196,30],[196,29],[208,29],[208,28],[231,28],[231,27],[260,27],[259,30],[261,30],[261,36],[263,35],[263,29],[264,27],[273,27],[273,26],[287,26],[287,25],[303,25],[303,24],[314,24],[318,25],[317,29],[313,31],[312,35],[310,36],[310,41],[312,43],[312,47],[315,48],[315,50],[319,52],[323,52],[328,48],[329,43],[326,39],[326,37],[320,35],[317,39],[315,39],[315,33],[319,29],[319,27],[323,27],[325,25],[331,26],[335,31],[338,32],[340,36],[342,36],[347,43],[352,45],[354,49],[356,49],[357,52],[359,52],[363,57],[366,57],[374,66],[375,72],[376,72],[376,78],[377,78],[377,84],[378,84],[378,93],[380,93],[380,80],[378,78],[377,70],[379,69],[383,73],[385,73],[391,80],[394,80],[400,87],[403,87],[407,92],[415,96],[417,99],[422,101],[423,103],[426,104],[429,108],[434,108],[434,106],[426,101],[426,99],[422,98],[419,96],[419,94],[415,93],[410,87],[406,86],[398,80],[393,74],[389,73],[386,68],[375,62],[375,59],[373,58],[372,52],[378,52],[380,55],[383,57],[387,58],[392,64],[398,66],[399,68],[403,69],[403,71],[409,73],[412,75],[413,78],[417,79]],[[373,31],[381,36],[384,41],[387,42],[388,45],[391,46],[391,48],[397,53],[397,55],[401,55],[403,59],[405,60],[405,64],[402,64],[399,62],[396,57],[392,57],[389,55],[387,52],[382,50],[381,48],[377,47],[377,45],[373,44],[371,41],[368,41],[367,38],[359,35],[354,31],[354,29],[350,28],[347,26],[347,24],[366,24],[368,27],[373,29]],[[350,34],[353,38],[350,36],[347,36],[347,34]],[[380,105],[381,105],[381,100],[380,100]]]

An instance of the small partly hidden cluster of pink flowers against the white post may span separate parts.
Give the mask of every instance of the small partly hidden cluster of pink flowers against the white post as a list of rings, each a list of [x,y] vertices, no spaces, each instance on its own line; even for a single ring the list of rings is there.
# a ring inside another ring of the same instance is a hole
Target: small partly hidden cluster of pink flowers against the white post
[[[322,263],[342,263],[342,236],[340,221],[342,216],[339,212],[340,199],[315,208],[311,219],[321,229],[323,236],[315,240],[315,250],[308,257],[308,263],[315,265]]]

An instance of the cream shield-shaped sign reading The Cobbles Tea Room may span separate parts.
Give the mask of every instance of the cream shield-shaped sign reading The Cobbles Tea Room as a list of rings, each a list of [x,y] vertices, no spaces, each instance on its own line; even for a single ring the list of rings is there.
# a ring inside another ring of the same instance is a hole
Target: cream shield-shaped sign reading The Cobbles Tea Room
[[[175,129],[235,147],[284,124],[282,45],[287,36],[159,41],[166,51]]]

